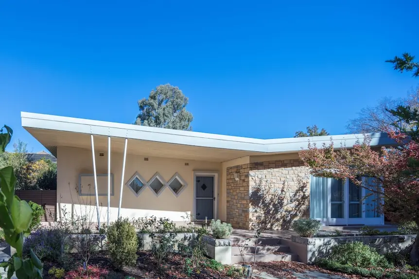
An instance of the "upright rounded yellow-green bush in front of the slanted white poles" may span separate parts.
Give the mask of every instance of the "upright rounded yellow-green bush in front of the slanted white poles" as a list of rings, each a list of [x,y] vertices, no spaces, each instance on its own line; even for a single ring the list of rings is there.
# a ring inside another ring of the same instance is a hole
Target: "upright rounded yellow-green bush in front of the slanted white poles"
[[[106,235],[113,265],[116,268],[135,265],[138,249],[137,232],[128,218],[119,218],[109,225]]]

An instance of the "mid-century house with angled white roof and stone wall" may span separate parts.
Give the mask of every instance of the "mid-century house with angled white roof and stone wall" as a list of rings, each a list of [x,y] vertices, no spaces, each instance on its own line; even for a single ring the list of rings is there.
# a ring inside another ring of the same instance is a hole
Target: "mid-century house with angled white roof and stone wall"
[[[301,216],[325,225],[384,224],[365,210],[364,188],[311,177],[297,153],[309,142],[350,148],[362,134],[264,140],[26,112],[21,120],[57,158],[58,217],[66,208],[92,211],[100,222],[151,215],[182,222],[187,212],[249,229],[263,214],[251,190],[265,184],[305,192],[273,229]],[[393,143],[384,133],[370,137],[374,147]]]

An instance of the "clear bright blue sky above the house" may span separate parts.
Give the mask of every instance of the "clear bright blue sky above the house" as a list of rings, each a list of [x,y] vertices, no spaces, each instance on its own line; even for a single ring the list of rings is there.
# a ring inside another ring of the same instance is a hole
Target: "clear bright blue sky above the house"
[[[190,98],[194,131],[279,138],[347,121],[419,79],[416,0],[2,1],[1,124],[20,112],[132,123],[159,84]]]

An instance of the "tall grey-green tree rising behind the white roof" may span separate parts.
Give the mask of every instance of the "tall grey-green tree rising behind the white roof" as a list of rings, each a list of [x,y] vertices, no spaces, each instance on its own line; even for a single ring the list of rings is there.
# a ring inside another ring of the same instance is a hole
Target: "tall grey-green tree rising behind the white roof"
[[[188,98],[177,86],[159,85],[148,98],[138,101],[140,113],[135,124],[191,131],[193,116],[186,110]]]

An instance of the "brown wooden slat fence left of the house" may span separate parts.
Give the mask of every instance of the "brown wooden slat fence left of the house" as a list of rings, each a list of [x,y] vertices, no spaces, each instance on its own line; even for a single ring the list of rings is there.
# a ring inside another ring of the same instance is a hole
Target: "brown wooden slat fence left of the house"
[[[45,214],[41,217],[41,222],[55,221],[57,209],[56,190],[17,190],[15,195],[22,200],[36,202],[44,208]]]

